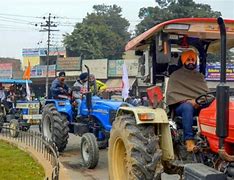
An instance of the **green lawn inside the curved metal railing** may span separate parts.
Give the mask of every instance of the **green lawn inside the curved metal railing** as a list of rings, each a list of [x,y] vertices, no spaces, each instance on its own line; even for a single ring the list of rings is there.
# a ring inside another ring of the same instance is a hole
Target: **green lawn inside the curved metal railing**
[[[29,154],[0,140],[0,179],[42,180],[43,167]]]

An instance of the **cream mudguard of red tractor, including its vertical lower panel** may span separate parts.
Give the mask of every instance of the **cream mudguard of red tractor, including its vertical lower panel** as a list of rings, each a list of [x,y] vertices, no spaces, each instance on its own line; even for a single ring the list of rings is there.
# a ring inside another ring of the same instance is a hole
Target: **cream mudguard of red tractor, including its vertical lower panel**
[[[148,108],[143,106],[138,107],[120,107],[116,117],[132,114],[136,119],[136,124],[160,124],[160,148],[162,149],[162,160],[170,161],[174,159],[174,150],[169,127],[167,114],[162,108]],[[151,119],[146,121],[140,120],[141,114],[150,114]]]

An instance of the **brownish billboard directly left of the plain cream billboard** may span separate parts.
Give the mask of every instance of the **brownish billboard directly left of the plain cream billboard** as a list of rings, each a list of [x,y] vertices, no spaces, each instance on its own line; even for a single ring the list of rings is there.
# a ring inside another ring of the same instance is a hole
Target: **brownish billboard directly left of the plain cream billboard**
[[[62,71],[62,70],[80,71],[81,58],[80,57],[58,58],[56,64],[57,64],[57,71]]]

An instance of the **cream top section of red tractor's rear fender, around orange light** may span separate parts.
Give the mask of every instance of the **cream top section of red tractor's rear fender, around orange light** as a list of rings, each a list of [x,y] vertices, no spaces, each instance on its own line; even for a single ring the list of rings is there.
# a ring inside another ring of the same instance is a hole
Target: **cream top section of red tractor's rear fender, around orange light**
[[[144,120],[141,121],[139,119],[139,114],[143,114],[143,113],[149,113],[153,116],[153,119],[151,120]],[[116,117],[123,115],[123,114],[132,114],[135,119],[136,119],[136,124],[168,124],[168,117],[167,117],[167,113],[165,112],[164,109],[162,108],[156,108],[156,109],[152,109],[149,107],[145,107],[145,106],[137,106],[137,107],[120,107],[117,111]]]

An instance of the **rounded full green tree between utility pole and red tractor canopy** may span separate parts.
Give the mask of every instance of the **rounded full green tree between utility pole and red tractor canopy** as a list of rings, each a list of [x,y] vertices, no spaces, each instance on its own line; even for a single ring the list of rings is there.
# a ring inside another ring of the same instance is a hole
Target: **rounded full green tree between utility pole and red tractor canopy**
[[[122,58],[124,44],[129,40],[129,22],[122,17],[117,6],[95,5],[94,12],[77,23],[71,34],[66,34],[64,44],[68,52],[86,59]]]

